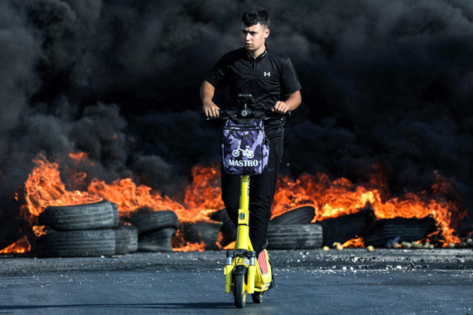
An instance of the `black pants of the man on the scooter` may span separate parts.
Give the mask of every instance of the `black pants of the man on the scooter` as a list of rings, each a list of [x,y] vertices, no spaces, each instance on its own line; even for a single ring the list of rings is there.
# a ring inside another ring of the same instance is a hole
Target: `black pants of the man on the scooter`
[[[279,174],[282,159],[282,145],[282,139],[270,140],[268,167],[262,174],[250,176],[249,234],[257,255],[263,251],[266,242],[266,232],[268,232],[268,223],[271,218],[271,204],[275,195],[277,174]],[[234,225],[238,225],[240,185],[239,175],[229,175],[222,172],[222,201]]]

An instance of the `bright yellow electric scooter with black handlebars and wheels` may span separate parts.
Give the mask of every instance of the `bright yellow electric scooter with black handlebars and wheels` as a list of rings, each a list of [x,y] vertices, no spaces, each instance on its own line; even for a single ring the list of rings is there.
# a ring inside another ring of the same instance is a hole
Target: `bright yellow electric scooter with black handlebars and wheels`
[[[239,109],[220,110],[222,119],[282,119],[279,114],[254,109],[251,95],[239,95]],[[288,113],[289,114],[289,113]],[[240,144],[240,143],[239,143]],[[236,156],[236,155],[234,155]],[[274,286],[273,273],[265,253],[268,272],[263,274],[258,266],[256,252],[253,250],[249,237],[249,175],[241,175],[241,189],[236,227],[234,250],[227,251],[227,264],[224,268],[225,292],[234,295],[236,307],[245,307],[246,295],[250,294],[254,303],[263,302],[263,292]],[[266,251],[266,249],[263,249]]]

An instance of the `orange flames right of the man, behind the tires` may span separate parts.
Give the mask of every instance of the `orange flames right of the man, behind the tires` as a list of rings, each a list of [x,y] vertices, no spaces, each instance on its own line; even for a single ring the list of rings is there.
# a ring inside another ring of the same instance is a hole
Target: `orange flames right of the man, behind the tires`
[[[326,174],[302,174],[293,181],[289,177],[280,177],[273,202],[273,217],[291,210],[294,206],[311,205],[316,208],[313,219],[313,222],[316,222],[356,213],[369,203],[378,219],[424,218],[432,215],[440,226],[443,246],[448,246],[450,243],[460,242],[454,235],[455,228],[465,218],[467,211],[443,196],[453,183],[438,173],[434,175],[433,194],[427,194],[426,191],[419,194],[407,192],[404,196],[385,198],[386,200],[381,198],[378,189],[355,185],[345,178],[331,181]]]

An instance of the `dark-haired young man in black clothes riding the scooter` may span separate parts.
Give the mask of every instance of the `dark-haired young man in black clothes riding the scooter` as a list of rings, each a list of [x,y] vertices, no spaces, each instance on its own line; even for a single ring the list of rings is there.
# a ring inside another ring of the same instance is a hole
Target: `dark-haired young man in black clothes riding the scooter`
[[[218,117],[220,107],[212,98],[215,89],[229,87],[231,107],[236,108],[239,94],[251,94],[261,109],[277,114],[293,111],[301,104],[301,84],[292,62],[284,54],[269,49],[270,18],[264,8],[252,8],[241,17],[244,47],[235,49],[215,64],[200,87],[206,117]],[[277,174],[283,153],[285,119],[265,121],[265,135],[270,142],[268,167],[251,176],[249,199],[249,235],[262,273],[268,273],[265,249]],[[222,172],[222,200],[235,225],[238,224],[240,177]]]

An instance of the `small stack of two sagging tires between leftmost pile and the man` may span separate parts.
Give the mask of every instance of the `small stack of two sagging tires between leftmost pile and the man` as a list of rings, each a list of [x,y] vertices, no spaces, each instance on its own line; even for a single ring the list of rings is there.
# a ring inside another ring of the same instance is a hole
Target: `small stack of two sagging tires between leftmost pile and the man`
[[[172,251],[172,237],[179,228],[179,219],[172,210],[137,210],[130,222],[138,230],[138,251]]]

